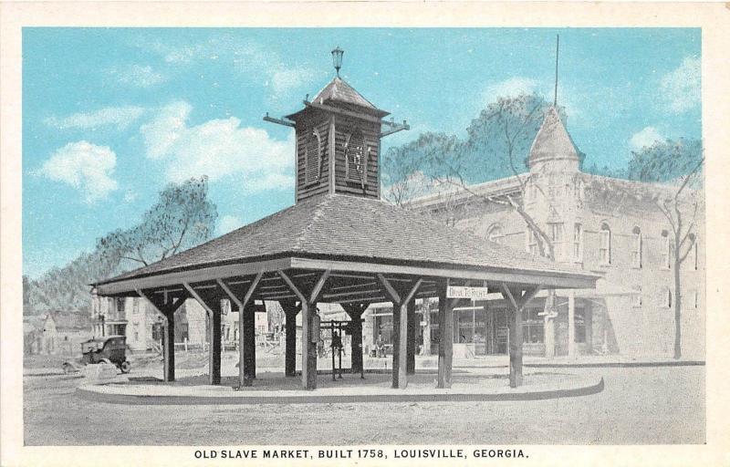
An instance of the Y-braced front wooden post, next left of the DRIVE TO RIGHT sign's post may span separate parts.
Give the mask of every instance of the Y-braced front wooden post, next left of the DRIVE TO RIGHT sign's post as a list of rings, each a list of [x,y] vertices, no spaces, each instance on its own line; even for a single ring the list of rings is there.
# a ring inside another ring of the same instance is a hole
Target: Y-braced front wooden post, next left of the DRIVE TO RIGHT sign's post
[[[409,289],[397,290],[384,275],[379,274],[384,292],[391,297],[393,304],[393,381],[392,387],[406,389],[408,387],[407,354],[408,354],[408,303],[413,299],[423,279],[415,281]]]

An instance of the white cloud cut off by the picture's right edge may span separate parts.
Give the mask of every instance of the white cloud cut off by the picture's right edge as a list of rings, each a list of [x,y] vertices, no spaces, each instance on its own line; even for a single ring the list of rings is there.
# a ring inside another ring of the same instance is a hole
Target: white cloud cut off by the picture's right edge
[[[662,77],[659,90],[673,112],[694,109],[702,99],[699,57],[685,57],[682,65]]]

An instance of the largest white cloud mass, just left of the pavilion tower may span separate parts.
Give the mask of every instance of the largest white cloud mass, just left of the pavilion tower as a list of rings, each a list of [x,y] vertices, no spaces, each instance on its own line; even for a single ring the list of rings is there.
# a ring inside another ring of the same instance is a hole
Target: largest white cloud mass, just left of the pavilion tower
[[[175,102],[163,108],[141,133],[151,159],[165,161],[169,181],[207,175],[211,182],[226,176],[243,180],[246,191],[291,187],[294,139],[274,140],[266,130],[241,127],[235,117],[190,126],[191,106]]]

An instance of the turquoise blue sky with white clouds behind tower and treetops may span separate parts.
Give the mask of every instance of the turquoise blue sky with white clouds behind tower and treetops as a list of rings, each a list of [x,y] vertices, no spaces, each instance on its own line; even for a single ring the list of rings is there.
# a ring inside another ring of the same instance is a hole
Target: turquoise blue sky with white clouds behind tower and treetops
[[[558,101],[588,164],[701,137],[700,29],[26,28],[23,264],[36,277],[207,174],[218,233],[292,204],[293,131],[262,121],[342,77],[411,131],[460,136],[498,95]]]

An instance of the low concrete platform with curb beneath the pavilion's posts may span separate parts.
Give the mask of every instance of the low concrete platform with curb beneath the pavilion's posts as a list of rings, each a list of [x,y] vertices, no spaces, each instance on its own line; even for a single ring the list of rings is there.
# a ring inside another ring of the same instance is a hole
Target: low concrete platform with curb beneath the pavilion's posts
[[[312,404],[359,402],[438,402],[544,400],[596,394],[603,390],[603,379],[565,373],[536,372],[525,376],[525,384],[510,389],[503,374],[454,375],[451,389],[436,389],[434,373],[409,377],[406,389],[391,389],[389,375],[343,375],[332,381],[319,376],[318,389],[304,390],[298,378],[282,374],[259,375],[254,386],[235,390],[235,378],[224,378],[221,386],[205,385],[205,377],[180,379],[173,383],[142,379],[127,384],[85,384],[77,394],[86,400],[119,404]]]

